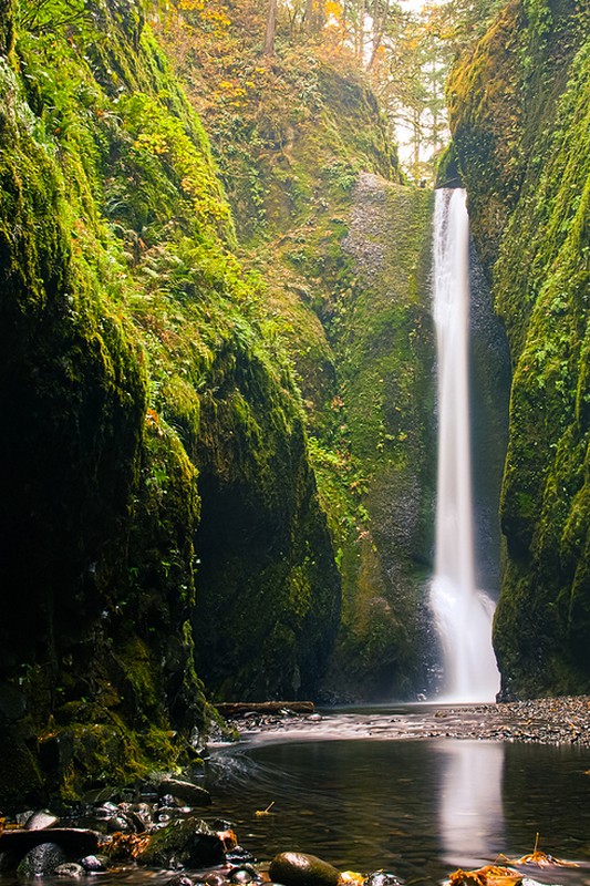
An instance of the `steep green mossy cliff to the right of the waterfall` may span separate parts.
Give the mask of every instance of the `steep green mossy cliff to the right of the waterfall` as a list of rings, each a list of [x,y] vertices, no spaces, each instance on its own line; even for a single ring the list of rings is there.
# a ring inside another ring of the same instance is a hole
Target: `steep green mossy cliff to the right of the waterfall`
[[[513,361],[495,646],[505,694],[590,687],[589,12],[513,2],[452,125]]]

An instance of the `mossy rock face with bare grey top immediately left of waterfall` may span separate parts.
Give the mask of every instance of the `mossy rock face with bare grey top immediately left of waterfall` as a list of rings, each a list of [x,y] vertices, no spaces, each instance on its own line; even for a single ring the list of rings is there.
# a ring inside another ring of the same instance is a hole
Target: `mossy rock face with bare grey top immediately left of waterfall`
[[[356,509],[334,526],[344,611],[330,677],[364,698],[415,698],[427,689],[432,663],[425,588],[436,454],[433,199],[366,173],[353,196],[342,244],[353,276],[330,332],[339,377],[335,441]]]

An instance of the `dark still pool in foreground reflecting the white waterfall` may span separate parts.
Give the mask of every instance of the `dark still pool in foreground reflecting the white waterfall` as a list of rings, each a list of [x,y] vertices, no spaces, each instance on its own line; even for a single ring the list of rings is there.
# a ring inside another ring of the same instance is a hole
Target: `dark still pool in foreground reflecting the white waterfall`
[[[590,883],[590,751],[466,740],[259,743],[214,761],[216,805],[258,858],[300,849],[341,869],[436,883],[539,848]],[[239,785],[239,787],[238,787]],[[273,803],[268,815],[256,815]]]

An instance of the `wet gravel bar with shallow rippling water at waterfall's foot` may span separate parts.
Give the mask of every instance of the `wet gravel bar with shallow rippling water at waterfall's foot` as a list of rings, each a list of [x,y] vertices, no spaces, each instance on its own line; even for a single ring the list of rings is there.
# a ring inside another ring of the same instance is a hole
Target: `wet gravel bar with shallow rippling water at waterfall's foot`
[[[245,713],[244,740],[476,739],[590,746],[590,696],[497,704],[407,704],[318,710],[311,715]]]

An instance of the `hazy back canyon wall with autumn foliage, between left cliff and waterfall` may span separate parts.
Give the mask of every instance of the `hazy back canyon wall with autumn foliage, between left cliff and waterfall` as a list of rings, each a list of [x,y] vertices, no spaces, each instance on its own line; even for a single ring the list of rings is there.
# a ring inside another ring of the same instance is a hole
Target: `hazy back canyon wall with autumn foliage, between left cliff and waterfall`
[[[325,698],[415,698],[426,679],[421,607],[435,454],[431,195],[400,184],[374,96],[345,52],[291,34],[283,9],[277,52],[263,59],[265,14],[263,2],[193,4],[163,22],[164,39],[195,106],[206,107],[238,237],[268,278],[268,309],[302,394],[343,584]],[[228,628],[228,674],[257,642],[253,633],[236,645],[231,625],[240,614],[231,600],[248,587],[240,563],[251,557],[251,538],[268,532],[265,512],[247,498],[242,506],[250,528],[216,616]],[[215,527],[222,548],[237,530],[207,521],[206,509],[204,503],[204,525]],[[279,544],[288,574],[293,542]],[[270,547],[263,565],[271,593]],[[204,568],[218,569],[205,560]],[[315,619],[306,585],[298,575],[290,580],[309,630]],[[268,632],[263,599],[257,611],[260,633]],[[203,629],[210,632],[207,620]],[[289,661],[291,632],[277,626],[277,655],[282,648]],[[213,670],[206,651],[201,668]],[[268,670],[248,677],[257,692],[268,679]],[[302,693],[300,663],[286,691],[299,682]],[[224,683],[226,691],[239,686],[229,676]]]

